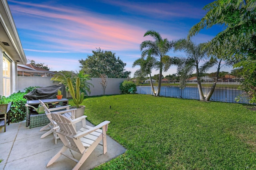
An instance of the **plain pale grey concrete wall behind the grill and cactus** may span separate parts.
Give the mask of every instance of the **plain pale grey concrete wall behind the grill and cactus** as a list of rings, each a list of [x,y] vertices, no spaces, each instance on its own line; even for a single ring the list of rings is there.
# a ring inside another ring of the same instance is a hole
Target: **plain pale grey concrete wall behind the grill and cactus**
[[[50,80],[51,77],[22,77],[18,76],[18,91],[24,92],[26,87],[47,87],[51,85],[55,85],[58,82],[53,82]],[[101,78],[91,78],[92,80],[88,81],[88,83],[92,83],[93,86],[90,86],[91,93],[88,96],[100,96],[103,95],[102,85],[100,84]],[[116,95],[120,94],[119,86],[120,84],[126,80],[118,79],[118,78],[108,78],[107,79],[107,87],[105,91],[105,95]]]

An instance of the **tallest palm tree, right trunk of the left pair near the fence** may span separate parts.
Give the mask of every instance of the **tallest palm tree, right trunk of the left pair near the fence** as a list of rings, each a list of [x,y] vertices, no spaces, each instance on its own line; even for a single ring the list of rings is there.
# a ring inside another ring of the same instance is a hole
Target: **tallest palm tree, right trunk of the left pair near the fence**
[[[164,61],[166,61],[166,58],[170,58],[170,56],[166,55],[168,51],[173,47],[173,43],[169,42],[167,38],[162,39],[160,34],[154,30],[148,30],[145,34],[145,36],[151,36],[155,39],[155,41],[152,40],[146,40],[140,44],[140,51],[142,51],[142,57],[145,56],[152,56],[156,60],[155,66],[156,69],[159,69],[159,79],[158,79],[158,89],[156,96],[160,95],[160,89],[161,89],[161,78],[162,78],[162,70],[164,67]],[[165,58],[165,59],[164,59]]]

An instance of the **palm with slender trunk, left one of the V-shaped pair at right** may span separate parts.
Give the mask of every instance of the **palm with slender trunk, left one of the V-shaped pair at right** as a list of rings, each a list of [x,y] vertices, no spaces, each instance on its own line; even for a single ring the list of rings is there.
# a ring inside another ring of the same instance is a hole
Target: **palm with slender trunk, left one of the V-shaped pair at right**
[[[205,48],[206,43],[200,43],[196,45],[191,40],[180,39],[174,45],[174,51],[180,50],[184,51],[187,55],[186,58],[174,57],[173,62],[178,66],[178,74],[181,76],[180,86],[182,88],[186,85],[186,78],[190,75],[194,69],[196,69],[197,86],[200,95],[200,100],[204,100],[204,93],[202,91],[201,77],[204,70],[210,67],[210,63],[206,63],[205,67],[199,66],[200,62],[206,58],[207,48]],[[207,66],[207,67],[206,67]],[[212,66],[212,65],[211,65]]]

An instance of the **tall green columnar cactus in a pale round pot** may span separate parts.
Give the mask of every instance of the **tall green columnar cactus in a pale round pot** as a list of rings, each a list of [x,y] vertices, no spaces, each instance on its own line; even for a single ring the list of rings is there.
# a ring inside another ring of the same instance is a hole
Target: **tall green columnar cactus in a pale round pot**
[[[72,96],[72,99],[76,105],[76,115],[75,118],[81,117],[84,115],[85,106],[80,105],[84,100],[84,93],[80,93],[80,78],[76,78],[76,91],[74,91],[74,87],[72,85],[72,81],[70,78],[67,79],[68,82],[68,91]]]

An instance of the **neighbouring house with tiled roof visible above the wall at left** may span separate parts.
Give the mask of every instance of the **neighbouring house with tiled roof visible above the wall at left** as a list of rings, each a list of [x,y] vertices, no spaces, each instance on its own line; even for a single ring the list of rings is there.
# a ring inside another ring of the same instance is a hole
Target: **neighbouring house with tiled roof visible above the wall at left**
[[[34,76],[34,77],[53,77],[54,72],[36,67],[31,64],[18,65],[18,76]]]

